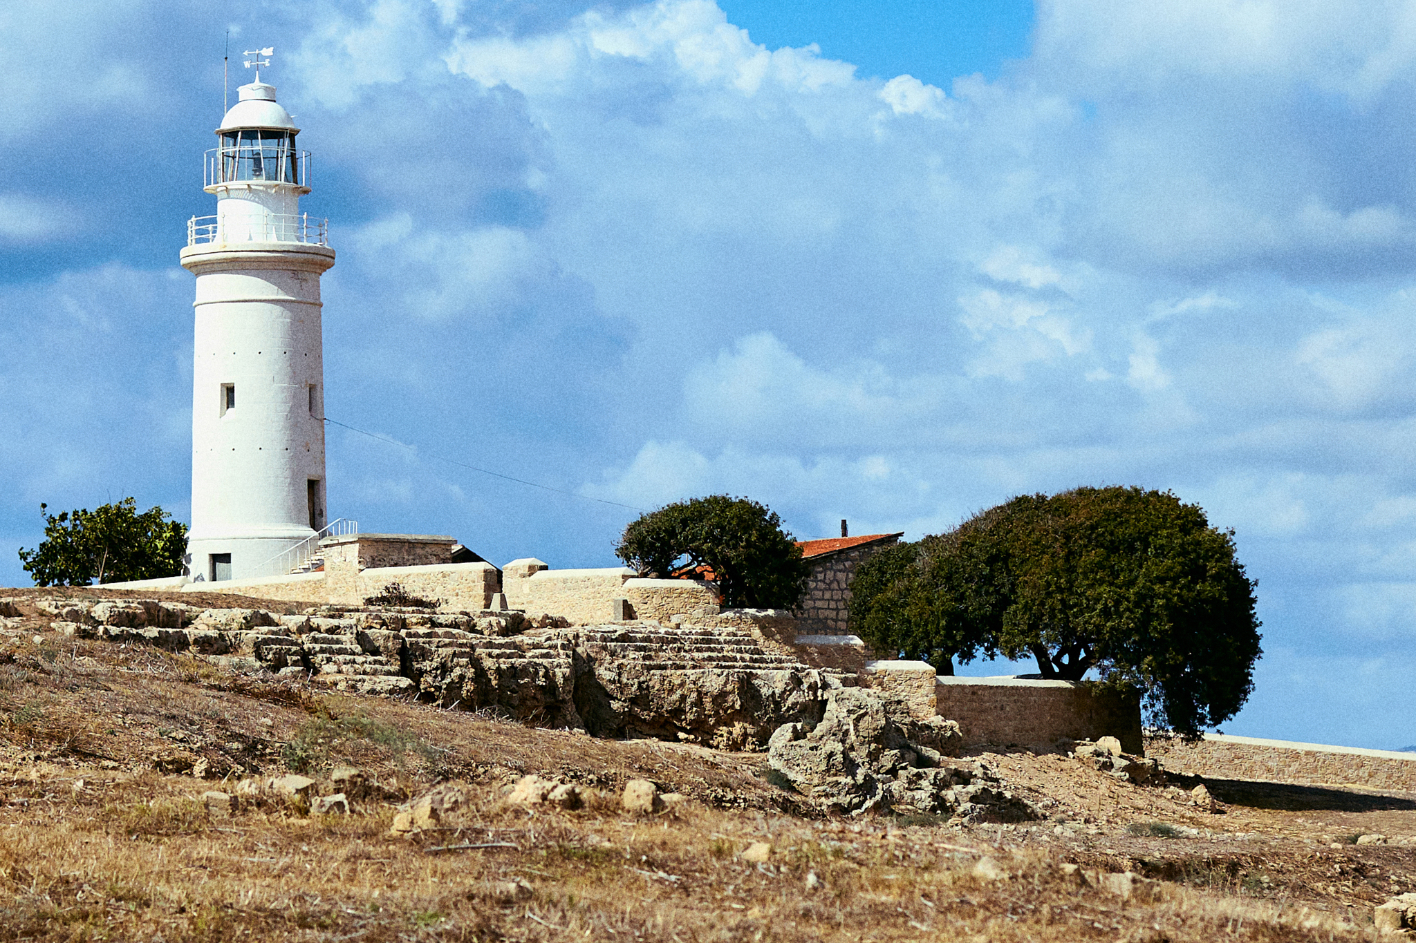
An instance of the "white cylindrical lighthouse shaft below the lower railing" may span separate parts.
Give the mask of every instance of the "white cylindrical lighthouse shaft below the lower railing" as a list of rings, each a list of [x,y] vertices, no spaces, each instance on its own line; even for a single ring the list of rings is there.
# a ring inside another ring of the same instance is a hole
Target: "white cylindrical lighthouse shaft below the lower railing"
[[[280,573],[273,558],[324,527],[326,246],[205,243],[193,369],[191,575]]]

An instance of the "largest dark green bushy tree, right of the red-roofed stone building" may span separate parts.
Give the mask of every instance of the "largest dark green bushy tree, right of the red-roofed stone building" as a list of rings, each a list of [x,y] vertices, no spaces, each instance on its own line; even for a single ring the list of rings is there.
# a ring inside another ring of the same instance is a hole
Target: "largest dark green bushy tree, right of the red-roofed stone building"
[[[862,563],[852,584],[851,625],[878,649],[936,666],[1031,656],[1046,679],[1096,669],[1187,735],[1253,691],[1255,584],[1233,532],[1170,492],[1024,495],[909,546]]]

